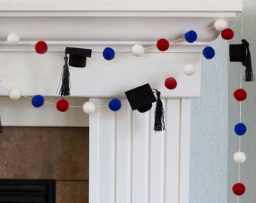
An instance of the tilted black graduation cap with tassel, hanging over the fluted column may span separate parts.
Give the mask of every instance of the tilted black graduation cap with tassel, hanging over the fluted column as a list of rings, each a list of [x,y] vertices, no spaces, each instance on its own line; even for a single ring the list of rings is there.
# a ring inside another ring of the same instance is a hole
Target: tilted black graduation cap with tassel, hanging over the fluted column
[[[155,97],[154,92],[157,92],[157,98]],[[160,92],[157,89],[151,89],[151,86],[146,83],[145,85],[126,91],[125,95],[133,111],[138,110],[141,113],[149,111],[152,108],[152,103],[157,102],[154,130],[165,130],[163,104],[160,100]]]

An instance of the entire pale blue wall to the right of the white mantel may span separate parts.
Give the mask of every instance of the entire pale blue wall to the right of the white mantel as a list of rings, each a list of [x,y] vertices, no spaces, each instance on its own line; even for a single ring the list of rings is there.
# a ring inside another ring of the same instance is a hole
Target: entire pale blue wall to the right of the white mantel
[[[233,91],[240,86],[244,67],[229,62],[229,44],[250,43],[251,60],[256,75],[256,1],[244,0],[242,17],[233,26],[230,41],[221,37],[212,41],[215,58],[202,58],[201,96],[191,102],[190,203],[237,202],[232,186],[238,181],[238,165],[233,153],[239,150],[239,138],[233,127],[239,123],[239,102]],[[234,20],[230,21],[232,26]],[[246,161],[241,165],[240,181],[246,192],[239,202],[256,199],[256,81],[242,82],[248,98],[241,103],[242,123],[248,131],[241,138]]]

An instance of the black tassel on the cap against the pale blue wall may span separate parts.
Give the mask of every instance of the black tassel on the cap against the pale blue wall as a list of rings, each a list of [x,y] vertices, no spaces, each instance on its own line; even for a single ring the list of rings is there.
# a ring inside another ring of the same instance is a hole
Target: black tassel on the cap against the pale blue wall
[[[253,78],[253,71],[252,71],[252,66],[251,66],[251,53],[249,50],[249,44],[245,39],[242,40],[242,44],[245,44],[245,50],[244,50],[245,51],[245,59],[242,62],[242,65],[245,66],[244,80],[246,82],[251,82],[254,80],[254,78]]]

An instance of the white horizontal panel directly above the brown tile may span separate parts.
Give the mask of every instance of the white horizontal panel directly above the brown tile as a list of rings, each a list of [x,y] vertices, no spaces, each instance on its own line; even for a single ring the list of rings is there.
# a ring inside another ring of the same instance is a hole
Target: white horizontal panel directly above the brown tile
[[[1,89],[0,83],[0,89]],[[22,97],[11,100],[8,96],[0,96],[0,116],[5,126],[89,126],[89,117],[82,111],[82,105],[88,98],[66,98],[70,104],[69,110],[60,112],[56,109],[59,97],[44,96],[44,105],[34,108],[31,98]]]

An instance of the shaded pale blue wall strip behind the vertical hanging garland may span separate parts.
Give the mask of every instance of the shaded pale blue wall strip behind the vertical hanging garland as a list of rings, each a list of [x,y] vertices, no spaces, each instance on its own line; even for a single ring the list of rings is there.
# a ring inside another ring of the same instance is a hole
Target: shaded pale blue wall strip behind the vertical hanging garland
[[[256,75],[256,1],[244,0],[242,18],[234,26],[236,38],[230,41],[238,44],[245,38],[250,44],[251,62]],[[233,132],[233,127],[239,123],[239,102],[233,98],[233,91],[240,86],[239,77],[243,77],[245,68],[241,64],[231,64],[229,71],[229,125],[228,136],[228,201],[236,202],[237,196],[232,192],[232,186],[239,181],[238,165],[233,162],[233,153],[239,150],[239,138]],[[256,78],[256,77],[255,77]],[[241,121],[247,126],[247,132],[241,139],[241,151],[246,154],[246,161],[240,168],[240,182],[245,184],[245,194],[239,197],[239,202],[255,202],[256,199],[256,80],[242,82],[242,88],[247,92],[247,98],[241,103]]]

